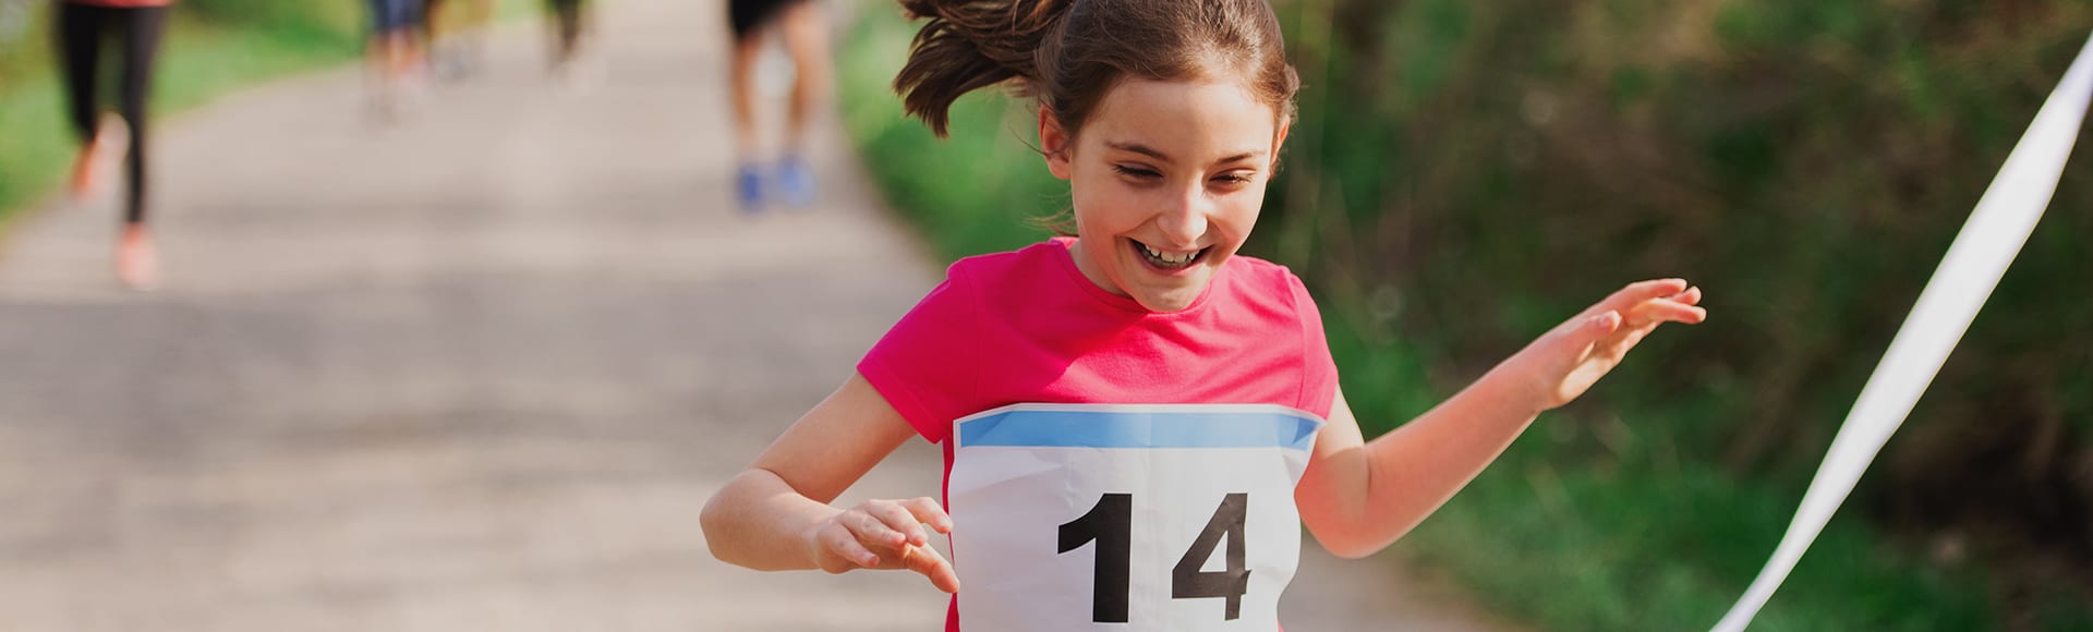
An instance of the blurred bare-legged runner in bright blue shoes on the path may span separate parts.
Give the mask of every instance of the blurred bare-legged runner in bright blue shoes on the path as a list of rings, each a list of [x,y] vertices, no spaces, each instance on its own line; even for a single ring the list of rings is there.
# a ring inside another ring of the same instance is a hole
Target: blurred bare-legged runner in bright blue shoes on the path
[[[829,27],[820,15],[820,4],[812,0],[728,0],[728,23],[735,27],[733,54],[733,98],[735,98],[735,142],[741,151],[741,170],[735,174],[735,197],[747,213],[762,211],[768,197],[787,205],[806,207],[814,203],[814,172],[806,157],[806,121],[829,88]],[[764,40],[777,31],[785,40],[785,50],[793,63],[791,100],[785,121],[785,142],[777,149],[774,161],[758,140],[758,61]]]

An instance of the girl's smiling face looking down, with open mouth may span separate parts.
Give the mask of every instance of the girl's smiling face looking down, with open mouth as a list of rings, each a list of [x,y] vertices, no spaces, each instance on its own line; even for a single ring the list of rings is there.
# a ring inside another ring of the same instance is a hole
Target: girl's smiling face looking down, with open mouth
[[[1122,80],[1076,138],[1040,111],[1046,167],[1076,207],[1076,268],[1151,312],[1189,308],[1243,247],[1283,140],[1270,105],[1218,80]]]

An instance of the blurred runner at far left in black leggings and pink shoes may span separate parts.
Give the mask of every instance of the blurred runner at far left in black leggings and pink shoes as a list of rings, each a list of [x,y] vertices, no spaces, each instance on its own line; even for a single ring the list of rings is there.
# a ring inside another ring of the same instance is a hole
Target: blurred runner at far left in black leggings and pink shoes
[[[123,144],[121,130],[100,126],[96,86],[103,69],[103,40],[115,40],[117,113],[130,130],[128,186],[123,195],[123,232],[117,236],[117,280],[132,289],[151,289],[159,280],[159,255],[144,230],[147,197],[147,103],[153,94],[153,59],[159,36],[167,27],[167,6],[174,0],[63,0],[57,6],[57,59],[65,75],[65,94],[73,132],[80,134],[80,157],[73,161],[73,195],[92,193],[103,153]]]

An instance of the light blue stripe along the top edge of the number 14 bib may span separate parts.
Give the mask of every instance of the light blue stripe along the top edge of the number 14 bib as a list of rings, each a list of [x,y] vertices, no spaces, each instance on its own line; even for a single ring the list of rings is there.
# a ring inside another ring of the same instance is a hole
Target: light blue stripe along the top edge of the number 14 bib
[[[1281,406],[1055,406],[990,410],[959,423],[959,446],[1009,448],[1291,448],[1314,446],[1321,419]]]

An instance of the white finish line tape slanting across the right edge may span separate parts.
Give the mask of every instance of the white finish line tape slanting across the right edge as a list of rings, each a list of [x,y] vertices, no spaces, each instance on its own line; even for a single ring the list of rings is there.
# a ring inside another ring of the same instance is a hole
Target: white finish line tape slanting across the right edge
[[[2028,241],[2034,222],[2043,218],[2049,197],[2057,190],[2057,178],[2064,174],[2064,161],[2078,140],[2089,96],[2093,96],[2093,40],[2078,52],[2078,61],[2064,73],[2064,82],[2049,94],[2049,100],[2043,103],[2028,134],[2020,136],[2005,167],[1999,167],[1999,178],[1978,199],[1970,222],[1955,234],[1955,243],[1949,245],[1934,278],[1919,293],[1919,303],[1911,308],[1905,326],[1890,341],[1890,352],[1882,356],[1882,364],[1875,364],[1875,373],[1861,387],[1852,412],[1846,414],[1838,437],[1831,439],[1831,452],[1817,467],[1808,492],[1802,494],[1796,521],[1787,523],[1787,536],[1781,536],[1779,548],[1758,571],[1758,580],[1752,580],[1743,599],[1729,609],[1729,615],[1723,615],[1723,622],[1714,624],[1714,632],[1739,632],[1752,624],[1758,609],[1766,605],[1773,590],[1781,586],[1781,580],[1787,580],[1787,571],[1794,571],[1796,561],[1823,532],[1831,513],[1852,492],[1861,471],[1867,469],[1869,460],[1875,460],[1875,452],[1905,423],[1905,414],[1911,414],[1919,393],[1934,381],[1934,373],[1970,329],[1970,320],[1976,320],[1976,312],[1984,308],[1999,276],[2005,276],[2005,268],[2013,264],[2013,255]]]

